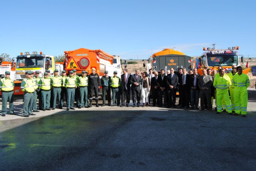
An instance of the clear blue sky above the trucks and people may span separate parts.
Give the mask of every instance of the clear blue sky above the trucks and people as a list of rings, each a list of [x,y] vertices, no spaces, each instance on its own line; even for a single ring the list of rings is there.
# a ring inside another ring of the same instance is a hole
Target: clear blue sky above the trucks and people
[[[0,54],[58,56],[101,49],[147,59],[163,48],[200,56],[204,46],[240,46],[256,57],[256,2],[201,0],[17,0],[0,2]]]

